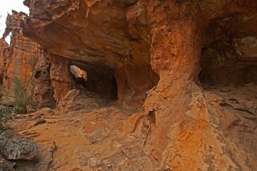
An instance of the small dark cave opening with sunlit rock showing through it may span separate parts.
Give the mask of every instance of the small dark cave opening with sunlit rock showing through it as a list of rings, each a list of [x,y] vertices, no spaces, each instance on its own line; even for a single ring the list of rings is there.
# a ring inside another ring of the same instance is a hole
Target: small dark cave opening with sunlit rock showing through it
[[[70,72],[78,85],[108,99],[117,99],[117,83],[114,70],[103,70],[82,63],[72,62]]]

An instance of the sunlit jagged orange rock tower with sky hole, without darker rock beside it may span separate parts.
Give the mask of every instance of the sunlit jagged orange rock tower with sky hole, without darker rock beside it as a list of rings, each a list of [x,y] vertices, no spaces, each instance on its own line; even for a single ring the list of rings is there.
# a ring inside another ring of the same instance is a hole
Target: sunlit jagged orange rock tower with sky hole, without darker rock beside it
[[[7,88],[7,95],[14,95],[14,79],[17,77],[21,80],[29,91],[33,89],[29,84],[32,79],[34,67],[40,56],[39,45],[34,41],[23,36],[20,25],[24,22],[26,14],[23,12],[13,11],[12,15],[8,15],[6,19],[6,28],[1,42],[5,43],[4,38],[12,34],[10,46],[1,47],[1,51],[7,53],[1,56],[5,67],[1,67],[3,71],[2,84]]]

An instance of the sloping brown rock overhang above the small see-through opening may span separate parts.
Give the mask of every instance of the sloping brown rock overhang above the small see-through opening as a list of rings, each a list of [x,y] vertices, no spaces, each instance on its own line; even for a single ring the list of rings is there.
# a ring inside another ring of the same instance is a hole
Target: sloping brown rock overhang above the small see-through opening
[[[131,37],[122,3],[26,0],[25,4],[30,18],[23,34],[50,54],[109,68],[121,66],[129,55]]]

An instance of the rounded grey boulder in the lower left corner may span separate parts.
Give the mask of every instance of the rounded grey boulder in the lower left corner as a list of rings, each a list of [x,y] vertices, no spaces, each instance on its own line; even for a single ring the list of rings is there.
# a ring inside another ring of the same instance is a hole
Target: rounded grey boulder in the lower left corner
[[[33,140],[16,136],[12,129],[0,133],[0,152],[7,160],[33,160],[37,151],[37,144]]]

